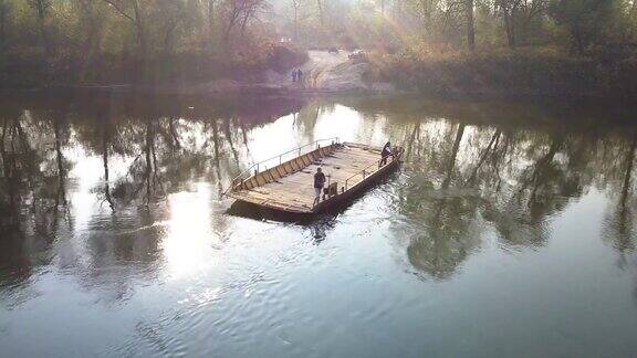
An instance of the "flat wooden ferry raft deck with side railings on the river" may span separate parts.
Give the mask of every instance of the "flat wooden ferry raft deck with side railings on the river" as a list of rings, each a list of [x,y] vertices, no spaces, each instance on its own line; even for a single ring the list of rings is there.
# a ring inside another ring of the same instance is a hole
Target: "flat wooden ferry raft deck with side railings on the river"
[[[226,194],[275,211],[317,213],[343,203],[366,183],[398,167],[403,148],[394,148],[383,165],[380,150],[340,143],[338,138],[316,140],[253,165],[232,180]],[[314,173],[318,167],[327,181],[321,201],[314,206]]]

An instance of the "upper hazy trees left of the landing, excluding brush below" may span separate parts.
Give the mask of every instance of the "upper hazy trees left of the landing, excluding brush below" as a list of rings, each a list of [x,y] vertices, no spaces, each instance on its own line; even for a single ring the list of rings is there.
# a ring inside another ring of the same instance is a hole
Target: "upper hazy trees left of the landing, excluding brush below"
[[[0,0],[0,39],[48,53],[211,51],[261,27],[265,0]]]

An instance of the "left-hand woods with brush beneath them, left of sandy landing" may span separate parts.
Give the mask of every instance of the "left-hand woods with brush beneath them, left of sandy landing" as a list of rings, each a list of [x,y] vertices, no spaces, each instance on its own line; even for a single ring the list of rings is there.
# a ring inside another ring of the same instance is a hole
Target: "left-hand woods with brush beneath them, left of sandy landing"
[[[91,82],[166,73],[179,61],[192,76],[259,65],[275,38],[262,21],[269,9],[265,0],[0,0],[0,73],[44,67]]]

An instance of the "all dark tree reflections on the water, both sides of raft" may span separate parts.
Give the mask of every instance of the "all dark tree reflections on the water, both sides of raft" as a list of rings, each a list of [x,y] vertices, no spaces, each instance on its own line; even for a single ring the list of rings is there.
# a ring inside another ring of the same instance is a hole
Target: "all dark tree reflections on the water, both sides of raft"
[[[606,213],[604,238],[617,251],[620,265],[635,270],[634,128],[625,135],[627,130],[614,124],[602,131],[598,120],[576,126],[560,122],[562,109],[546,114],[510,104],[457,108],[410,99],[345,103],[363,119],[344,136],[362,141],[391,138],[406,148],[403,175],[391,183],[396,194],[390,207],[396,210],[391,214],[401,218],[394,229],[408,238],[408,261],[422,275],[452,276],[482,245],[485,228],[513,250],[545,245],[552,218],[592,189],[616,198]],[[201,232],[227,238],[220,196],[230,178],[261,155],[251,151],[251,134],[258,134],[263,123],[294,114],[288,129],[301,141],[312,141],[317,139],[320,118],[330,117],[337,106],[317,101],[306,106],[260,105],[248,113],[236,109],[241,107],[189,107],[4,106],[0,266],[11,272],[4,275],[11,282],[0,285],[24,283],[34,267],[58,254],[64,270],[87,285],[111,286],[109,299],[126,297],[130,288],[118,277],[135,275],[116,270],[156,274],[153,267],[161,255],[166,235],[161,222],[170,219],[170,196],[212,186],[215,194],[203,202],[212,207],[212,214]],[[98,165],[91,168],[100,172],[98,179],[87,194],[79,196],[83,183],[77,182],[75,167],[93,159]],[[82,200],[98,208],[80,228],[72,209]],[[330,218],[309,230],[321,242],[336,224]],[[90,240],[81,244],[80,239],[69,240],[86,234],[86,228]],[[62,252],[52,253],[56,238],[66,242],[55,249]],[[134,264],[114,270],[114,262]]]

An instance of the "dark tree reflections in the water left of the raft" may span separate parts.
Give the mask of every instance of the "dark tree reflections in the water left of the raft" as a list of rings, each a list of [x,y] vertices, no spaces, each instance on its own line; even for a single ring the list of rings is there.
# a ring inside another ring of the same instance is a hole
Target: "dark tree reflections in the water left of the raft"
[[[1,108],[0,271],[9,274],[0,287],[18,292],[55,256],[63,272],[118,301],[129,280],[156,274],[168,196],[211,183],[221,207],[223,185],[250,161],[254,118],[273,120],[299,104],[201,113],[126,103]],[[215,215],[210,230],[222,236],[224,221]]]

